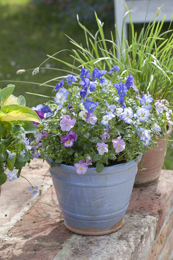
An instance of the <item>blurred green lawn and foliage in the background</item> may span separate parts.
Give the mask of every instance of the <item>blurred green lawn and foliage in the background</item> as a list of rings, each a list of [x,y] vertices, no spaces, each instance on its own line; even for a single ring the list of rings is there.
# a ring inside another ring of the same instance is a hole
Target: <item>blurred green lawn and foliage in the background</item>
[[[85,46],[85,35],[78,25],[76,14],[80,22],[94,34],[97,31],[94,10],[104,22],[105,38],[109,39],[110,31],[114,31],[113,0],[0,0],[0,88],[12,81],[16,85],[14,94],[24,95],[29,107],[48,101],[48,98],[25,92],[54,96],[53,88],[15,81],[43,83],[62,76],[62,72],[49,68],[67,69],[66,65],[49,59],[36,76],[32,76],[32,70],[21,75],[16,75],[16,71],[34,69],[46,60],[47,54],[74,48],[65,34]],[[165,24],[165,30],[167,27]],[[138,24],[135,29],[140,32],[141,26]],[[73,63],[69,54],[69,51],[63,51],[56,57]],[[64,72],[63,75],[66,74]],[[172,150],[168,148],[164,162],[167,169],[173,169],[171,160]]]

